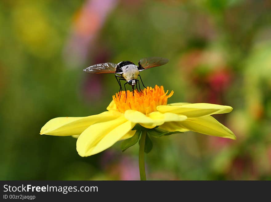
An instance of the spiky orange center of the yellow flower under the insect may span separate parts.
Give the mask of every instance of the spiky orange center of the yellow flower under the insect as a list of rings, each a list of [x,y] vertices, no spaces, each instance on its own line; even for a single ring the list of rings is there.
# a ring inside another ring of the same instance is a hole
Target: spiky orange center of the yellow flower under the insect
[[[171,97],[174,92],[171,91],[168,95],[167,93],[168,90],[165,92],[163,86],[159,87],[156,85],[154,88],[147,87],[142,92],[135,90],[134,96],[133,92],[127,90],[127,98],[126,92],[121,91],[113,95],[113,100],[115,101],[117,110],[121,113],[124,113],[128,109],[133,109],[148,114],[157,111],[157,106],[168,104],[168,98]]]

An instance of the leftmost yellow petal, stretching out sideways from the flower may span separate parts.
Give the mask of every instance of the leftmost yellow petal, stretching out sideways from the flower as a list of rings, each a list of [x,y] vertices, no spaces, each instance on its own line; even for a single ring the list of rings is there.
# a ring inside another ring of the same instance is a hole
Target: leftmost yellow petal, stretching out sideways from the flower
[[[40,134],[55,136],[80,135],[85,129],[96,122],[104,122],[119,117],[121,113],[103,112],[88,117],[58,117],[48,121]]]

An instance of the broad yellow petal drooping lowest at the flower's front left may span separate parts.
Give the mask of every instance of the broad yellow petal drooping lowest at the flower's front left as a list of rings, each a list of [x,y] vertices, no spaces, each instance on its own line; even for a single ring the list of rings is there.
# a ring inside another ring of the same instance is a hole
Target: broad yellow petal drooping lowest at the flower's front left
[[[96,123],[88,127],[77,139],[76,149],[80,156],[99,153],[126,135],[135,123],[127,121],[124,116],[115,120]]]

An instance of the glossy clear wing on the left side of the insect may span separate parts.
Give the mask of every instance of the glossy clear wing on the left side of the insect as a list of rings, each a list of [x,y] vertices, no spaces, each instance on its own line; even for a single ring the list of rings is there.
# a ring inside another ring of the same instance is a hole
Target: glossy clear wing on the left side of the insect
[[[107,62],[89,66],[86,69],[84,69],[84,71],[87,73],[100,74],[100,73],[115,73],[116,69],[117,64]]]

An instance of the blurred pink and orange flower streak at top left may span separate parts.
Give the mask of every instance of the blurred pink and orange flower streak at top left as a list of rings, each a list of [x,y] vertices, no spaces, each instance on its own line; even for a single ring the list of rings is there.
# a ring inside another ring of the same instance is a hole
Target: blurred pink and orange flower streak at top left
[[[88,0],[75,14],[71,36],[64,51],[64,59],[68,65],[85,64],[88,53],[95,50],[99,30],[117,2],[118,0]]]

